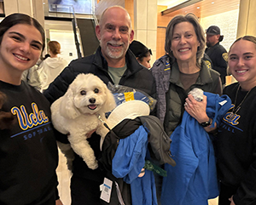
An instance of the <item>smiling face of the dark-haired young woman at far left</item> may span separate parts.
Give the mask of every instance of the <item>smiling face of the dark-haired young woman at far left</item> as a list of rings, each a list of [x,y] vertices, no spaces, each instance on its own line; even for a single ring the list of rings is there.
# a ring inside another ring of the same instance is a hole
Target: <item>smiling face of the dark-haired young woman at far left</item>
[[[0,79],[14,83],[9,77],[19,79],[23,71],[35,65],[42,47],[42,35],[34,26],[17,24],[10,27],[3,34],[0,45]]]

